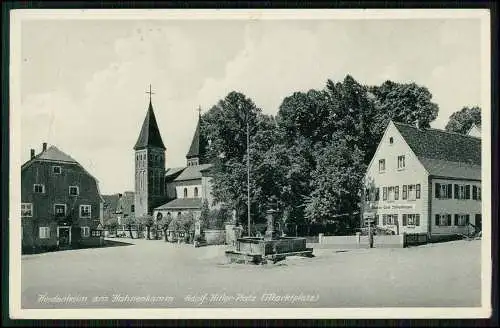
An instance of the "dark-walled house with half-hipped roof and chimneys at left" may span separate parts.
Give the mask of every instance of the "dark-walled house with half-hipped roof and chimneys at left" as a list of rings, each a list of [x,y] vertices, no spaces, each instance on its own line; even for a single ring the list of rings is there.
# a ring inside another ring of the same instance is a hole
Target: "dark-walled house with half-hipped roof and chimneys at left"
[[[21,167],[22,247],[24,250],[98,245],[103,199],[98,181],[55,146]]]

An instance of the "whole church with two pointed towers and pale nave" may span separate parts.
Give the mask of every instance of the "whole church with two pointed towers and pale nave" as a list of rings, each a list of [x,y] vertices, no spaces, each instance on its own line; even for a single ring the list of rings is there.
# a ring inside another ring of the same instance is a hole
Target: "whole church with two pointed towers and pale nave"
[[[186,166],[165,169],[165,151],[151,99],[139,138],[135,144],[135,216],[155,219],[182,213],[201,214],[211,195],[211,164],[205,162],[206,139],[201,135],[201,115],[186,154]]]

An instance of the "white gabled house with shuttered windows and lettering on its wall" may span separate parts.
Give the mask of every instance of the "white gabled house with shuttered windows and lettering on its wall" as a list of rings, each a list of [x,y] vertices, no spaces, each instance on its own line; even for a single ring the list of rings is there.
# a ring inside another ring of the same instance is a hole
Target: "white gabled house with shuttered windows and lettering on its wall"
[[[391,121],[364,184],[364,218],[396,234],[481,229],[479,138]]]

